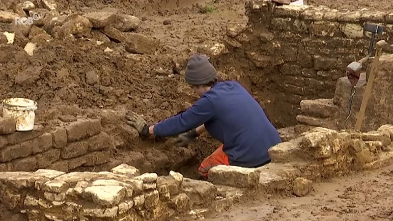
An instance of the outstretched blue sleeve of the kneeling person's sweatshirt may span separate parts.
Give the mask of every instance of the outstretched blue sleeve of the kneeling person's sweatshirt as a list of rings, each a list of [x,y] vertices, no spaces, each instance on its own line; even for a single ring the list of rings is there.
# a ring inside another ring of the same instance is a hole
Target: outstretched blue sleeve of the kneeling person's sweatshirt
[[[202,96],[187,111],[172,116],[154,125],[154,135],[169,137],[197,128],[216,116],[211,101]]]

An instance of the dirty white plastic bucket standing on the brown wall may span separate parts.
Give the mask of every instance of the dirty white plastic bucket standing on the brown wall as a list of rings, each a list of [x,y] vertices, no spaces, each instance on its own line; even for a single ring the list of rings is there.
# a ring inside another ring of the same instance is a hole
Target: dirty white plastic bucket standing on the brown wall
[[[3,100],[3,117],[14,118],[16,131],[31,131],[34,128],[37,102],[25,98]]]

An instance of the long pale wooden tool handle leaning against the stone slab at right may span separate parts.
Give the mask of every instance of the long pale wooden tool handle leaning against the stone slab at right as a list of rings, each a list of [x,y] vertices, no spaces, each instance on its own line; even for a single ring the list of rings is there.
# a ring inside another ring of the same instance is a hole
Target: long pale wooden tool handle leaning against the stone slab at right
[[[372,92],[372,84],[374,83],[375,73],[378,71],[379,68],[379,57],[382,54],[382,48],[386,45],[386,41],[381,40],[378,41],[377,51],[375,52],[374,59],[372,61],[372,66],[370,70],[370,75],[367,80],[367,85],[365,86],[365,94],[363,95],[362,105],[360,106],[358,119],[356,120],[355,124],[355,131],[360,131],[362,128],[363,119],[365,118],[365,109],[367,107],[367,102],[370,99],[371,92]]]

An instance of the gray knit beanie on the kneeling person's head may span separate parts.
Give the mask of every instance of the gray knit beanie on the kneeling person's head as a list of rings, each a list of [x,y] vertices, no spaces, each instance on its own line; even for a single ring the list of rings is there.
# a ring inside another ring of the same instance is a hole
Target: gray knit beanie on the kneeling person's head
[[[206,84],[217,78],[217,71],[206,55],[192,55],[186,67],[185,78],[192,85]]]

